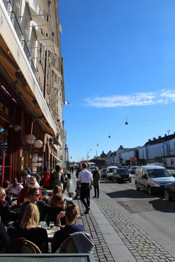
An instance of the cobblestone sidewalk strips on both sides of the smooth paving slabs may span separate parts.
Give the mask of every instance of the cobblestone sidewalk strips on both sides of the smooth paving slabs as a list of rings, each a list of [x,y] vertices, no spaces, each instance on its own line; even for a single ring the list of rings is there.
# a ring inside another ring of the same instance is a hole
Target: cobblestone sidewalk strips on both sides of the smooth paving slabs
[[[77,179],[73,175],[71,180],[76,188]],[[91,197],[94,195],[94,191],[91,191]],[[93,199],[105,217],[108,219],[110,225],[114,228],[119,235],[123,243],[129,249],[138,262],[170,262],[175,261],[165,249],[161,247],[156,241],[154,241],[147,233],[145,233],[139,226],[132,222],[123,212],[113,206],[108,199],[100,194],[100,198]],[[93,201],[91,199],[91,201]],[[80,200],[78,200],[79,209],[81,214],[85,209],[82,206]],[[89,215],[83,216],[83,226],[86,232],[91,234],[95,243],[94,258],[96,261],[115,261],[112,254],[105,243],[103,235],[98,227],[96,219],[90,212]]]

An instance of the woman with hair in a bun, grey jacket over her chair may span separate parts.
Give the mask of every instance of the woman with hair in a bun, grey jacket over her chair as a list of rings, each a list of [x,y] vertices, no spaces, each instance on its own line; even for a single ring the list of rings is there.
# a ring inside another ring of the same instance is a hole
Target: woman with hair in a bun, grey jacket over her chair
[[[55,253],[59,249],[63,241],[70,235],[75,232],[85,231],[85,228],[82,225],[76,225],[75,221],[79,216],[79,208],[75,203],[68,205],[66,208],[66,225],[61,227],[61,230],[55,232],[53,241],[51,243],[51,252]]]

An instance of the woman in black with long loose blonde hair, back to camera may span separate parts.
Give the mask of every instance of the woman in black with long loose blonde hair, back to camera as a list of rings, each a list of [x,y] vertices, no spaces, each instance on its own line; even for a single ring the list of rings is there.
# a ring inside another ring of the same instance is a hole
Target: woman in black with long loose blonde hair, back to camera
[[[38,227],[39,220],[37,205],[34,203],[28,204],[24,211],[21,227],[17,230],[16,235],[17,238],[24,237],[33,242],[41,250],[41,253],[49,253],[47,231],[45,228]]]

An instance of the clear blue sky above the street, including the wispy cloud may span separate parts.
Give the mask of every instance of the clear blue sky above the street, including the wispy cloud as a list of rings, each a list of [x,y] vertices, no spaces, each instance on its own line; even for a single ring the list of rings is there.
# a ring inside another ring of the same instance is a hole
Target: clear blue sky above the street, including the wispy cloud
[[[172,134],[174,0],[58,3],[69,158],[86,159],[89,151],[91,159]]]

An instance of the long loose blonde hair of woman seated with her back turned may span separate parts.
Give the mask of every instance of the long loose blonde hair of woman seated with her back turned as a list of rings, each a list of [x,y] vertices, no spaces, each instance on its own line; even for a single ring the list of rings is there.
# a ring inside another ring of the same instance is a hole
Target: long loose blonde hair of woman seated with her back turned
[[[20,227],[29,229],[30,226],[38,226],[40,219],[40,214],[38,208],[35,204],[30,203],[26,206],[24,210],[23,219],[21,221]]]

